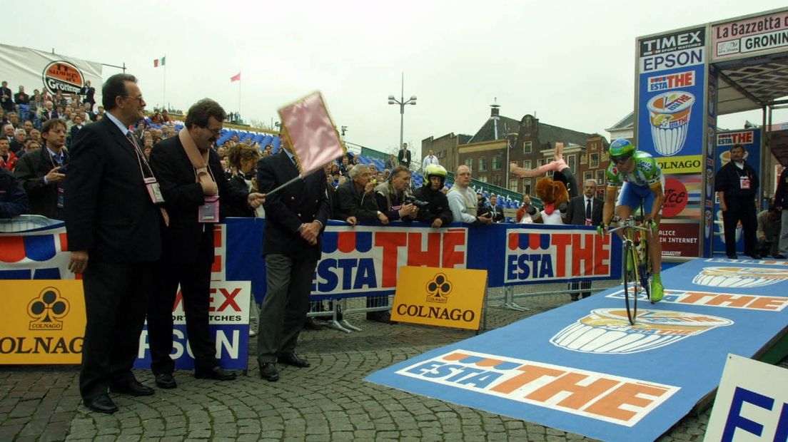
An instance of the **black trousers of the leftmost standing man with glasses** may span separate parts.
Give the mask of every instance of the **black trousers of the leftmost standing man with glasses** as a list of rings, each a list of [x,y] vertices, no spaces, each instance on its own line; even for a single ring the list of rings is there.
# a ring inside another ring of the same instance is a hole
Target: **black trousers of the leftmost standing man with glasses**
[[[87,323],[82,346],[80,395],[106,394],[110,385],[136,381],[139,349],[152,287],[152,263],[91,261],[83,276]]]

